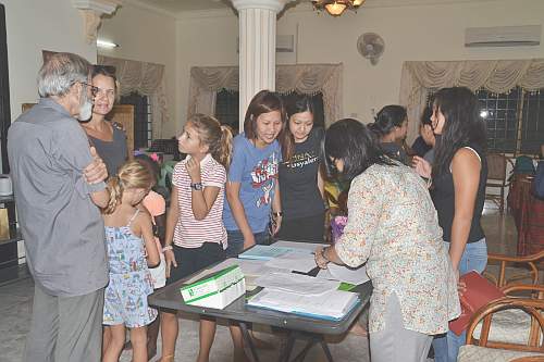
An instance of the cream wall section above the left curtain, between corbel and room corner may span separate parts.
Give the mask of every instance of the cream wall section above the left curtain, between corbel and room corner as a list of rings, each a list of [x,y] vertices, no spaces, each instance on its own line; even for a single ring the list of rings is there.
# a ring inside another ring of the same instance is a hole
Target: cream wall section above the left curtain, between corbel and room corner
[[[129,59],[165,65],[166,99],[169,123],[163,128],[163,136],[175,134],[178,123],[175,113],[175,18],[166,13],[159,13],[138,8],[126,1],[118,9],[114,16],[104,18],[98,32],[99,38],[119,43],[119,48],[102,49],[101,55]]]

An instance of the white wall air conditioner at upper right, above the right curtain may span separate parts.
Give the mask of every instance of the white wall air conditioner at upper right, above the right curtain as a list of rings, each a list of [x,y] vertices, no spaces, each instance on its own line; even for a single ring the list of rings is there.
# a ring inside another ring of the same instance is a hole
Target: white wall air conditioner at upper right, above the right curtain
[[[541,25],[469,27],[465,47],[520,47],[541,43]]]

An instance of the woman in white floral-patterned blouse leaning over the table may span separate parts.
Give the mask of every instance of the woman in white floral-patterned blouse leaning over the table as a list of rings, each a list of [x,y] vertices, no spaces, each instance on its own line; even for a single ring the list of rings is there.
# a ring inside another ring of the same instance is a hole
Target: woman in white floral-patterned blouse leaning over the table
[[[452,262],[425,183],[387,158],[356,120],[334,123],[325,135],[330,172],[351,180],[349,217],[333,247],[316,263],[359,266],[374,287],[370,301],[372,362],[425,361],[432,336],[460,313]]]

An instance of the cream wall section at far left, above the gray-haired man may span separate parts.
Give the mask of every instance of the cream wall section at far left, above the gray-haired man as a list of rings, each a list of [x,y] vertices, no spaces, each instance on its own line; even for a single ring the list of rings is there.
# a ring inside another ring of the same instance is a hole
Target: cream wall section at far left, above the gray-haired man
[[[41,50],[67,51],[96,62],[96,45],[85,42],[83,17],[69,0],[3,0],[8,33],[11,121],[22,103],[38,100],[36,75]]]

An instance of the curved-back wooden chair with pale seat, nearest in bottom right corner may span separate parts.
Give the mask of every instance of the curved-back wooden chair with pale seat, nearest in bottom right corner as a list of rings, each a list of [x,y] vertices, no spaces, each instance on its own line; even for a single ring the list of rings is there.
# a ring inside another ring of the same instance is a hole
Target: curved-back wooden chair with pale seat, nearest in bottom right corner
[[[540,287],[542,288],[542,286]],[[530,315],[529,338],[526,344],[490,340],[492,316],[507,310],[520,310]],[[505,297],[484,305],[471,319],[467,330],[467,345],[461,347],[457,361],[506,362],[526,357],[544,358],[544,345],[542,342],[542,336],[544,335],[543,310],[544,300],[531,298]],[[482,321],[482,332],[479,339],[477,339],[474,330]]]

